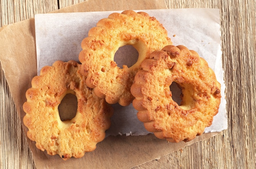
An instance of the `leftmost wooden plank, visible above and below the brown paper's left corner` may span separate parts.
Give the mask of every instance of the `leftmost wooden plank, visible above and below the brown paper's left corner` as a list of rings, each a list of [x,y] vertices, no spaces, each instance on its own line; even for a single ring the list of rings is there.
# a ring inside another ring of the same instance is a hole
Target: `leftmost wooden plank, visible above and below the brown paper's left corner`
[[[57,4],[57,0],[0,0],[0,27],[57,10]],[[0,168],[36,168],[1,65],[0,100]]]

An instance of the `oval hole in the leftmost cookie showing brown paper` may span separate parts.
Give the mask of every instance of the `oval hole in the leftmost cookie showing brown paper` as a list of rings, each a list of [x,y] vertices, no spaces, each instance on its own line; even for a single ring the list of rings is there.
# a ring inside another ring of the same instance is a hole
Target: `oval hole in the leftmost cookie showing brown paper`
[[[77,104],[77,98],[74,94],[66,94],[61,100],[61,104],[58,106],[61,121],[68,121],[76,116]]]

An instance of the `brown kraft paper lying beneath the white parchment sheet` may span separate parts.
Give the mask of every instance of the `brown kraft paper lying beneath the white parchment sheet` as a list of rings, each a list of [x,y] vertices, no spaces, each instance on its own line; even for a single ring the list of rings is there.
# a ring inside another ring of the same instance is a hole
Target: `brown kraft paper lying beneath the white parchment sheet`
[[[72,5],[58,12],[116,11],[166,9],[164,0],[88,0]],[[22,119],[25,112],[22,105],[26,101],[25,92],[31,87],[31,80],[37,74],[34,18],[7,25],[0,29],[0,61],[13,96],[17,112]],[[17,131],[19,132],[19,131]],[[109,136],[97,144],[93,152],[83,158],[64,161],[58,155],[49,156],[46,151],[36,148],[28,139],[34,162],[40,168],[130,168],[150,160],[160,158],[194,142],[211,138],[217,133],[204,133],[190,142],[170,143],[152,134],[147,136]]]

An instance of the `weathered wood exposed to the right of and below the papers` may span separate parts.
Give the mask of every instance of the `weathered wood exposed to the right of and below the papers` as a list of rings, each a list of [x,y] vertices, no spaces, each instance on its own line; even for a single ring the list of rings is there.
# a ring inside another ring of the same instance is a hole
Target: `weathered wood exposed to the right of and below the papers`
[[[167,0],[166,0],[167,1]],[[169,8],[221,9],[229,129],[140,167],[255,168],[255,7],[252,1],[173,0]],[[250,11],[250,12],[249,12]],[[243,31],[242,31],[243,30]]]

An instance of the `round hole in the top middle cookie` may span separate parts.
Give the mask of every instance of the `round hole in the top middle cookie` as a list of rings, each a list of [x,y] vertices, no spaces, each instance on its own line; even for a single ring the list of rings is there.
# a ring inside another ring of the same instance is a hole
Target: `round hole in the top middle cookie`
[[[139,53],[132,45],[125,45],[119,47],[114,56],[114,61],[118,67],[132,67],[138,60]]]

